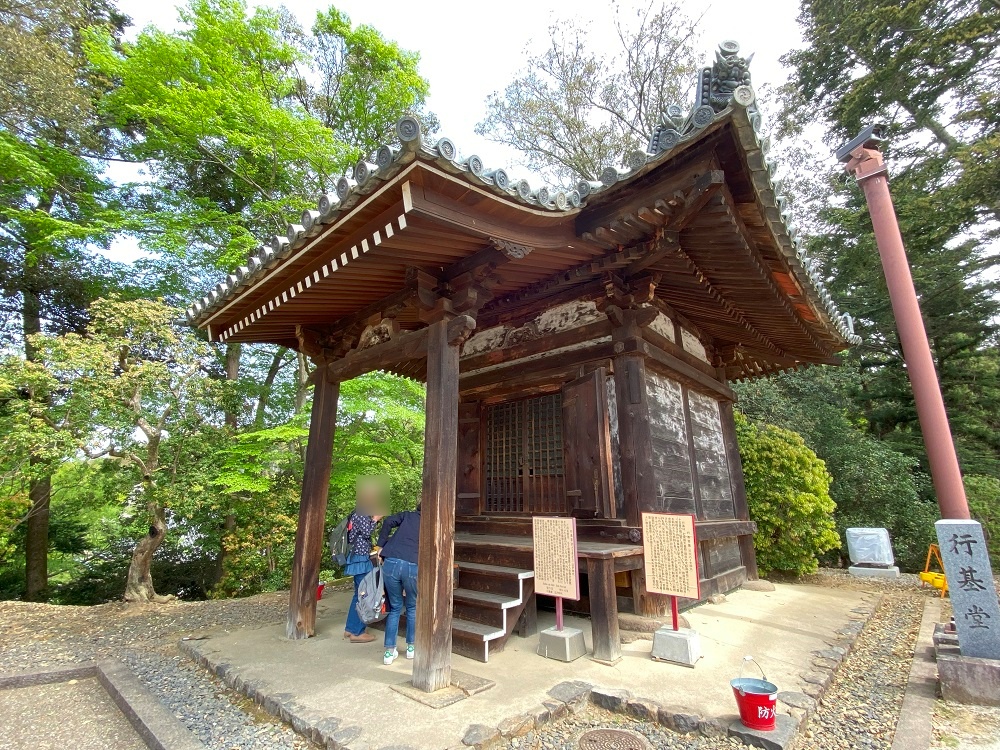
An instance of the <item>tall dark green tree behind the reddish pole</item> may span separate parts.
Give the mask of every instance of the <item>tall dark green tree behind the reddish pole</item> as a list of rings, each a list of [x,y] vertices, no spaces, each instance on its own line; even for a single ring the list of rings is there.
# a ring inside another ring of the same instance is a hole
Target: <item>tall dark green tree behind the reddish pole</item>
[[[785,61],[783,134],[819,121],[839,145],[871,121],[889,126],[891,185],[963,469],[1000,475],[1000,207],[995,177],[1000,12],[966,0],[803,2],[806,47]],[[873,435],[925,466],[912,390],[863,198],[814,171],[795,181],[810,252],[864,343],[849,354]],[[837,173],[839,174],[839,172]]]

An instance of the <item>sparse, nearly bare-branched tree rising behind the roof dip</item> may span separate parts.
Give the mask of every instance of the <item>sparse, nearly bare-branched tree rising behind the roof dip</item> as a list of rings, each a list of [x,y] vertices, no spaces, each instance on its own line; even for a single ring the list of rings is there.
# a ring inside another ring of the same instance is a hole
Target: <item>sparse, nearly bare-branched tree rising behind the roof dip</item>
[[[645,149],[666,108],[690,98],[696,22],[678,3],[650,5],[634,18],[618,6],[614,13],[619,45],[608,54],[593,50],[577,22],[553,24],[548,49],[490,95],[476,132],[563,183],[596,180],[629,151]]]

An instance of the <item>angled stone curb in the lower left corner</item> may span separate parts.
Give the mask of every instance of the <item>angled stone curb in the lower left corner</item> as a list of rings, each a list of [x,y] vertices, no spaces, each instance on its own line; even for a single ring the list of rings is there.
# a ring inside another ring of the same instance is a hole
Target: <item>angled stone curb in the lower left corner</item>
[[[95,677],[151,750],[205,750],[194,734],[121,662],[104,659],[0,675],[0,689],[51,685]]]

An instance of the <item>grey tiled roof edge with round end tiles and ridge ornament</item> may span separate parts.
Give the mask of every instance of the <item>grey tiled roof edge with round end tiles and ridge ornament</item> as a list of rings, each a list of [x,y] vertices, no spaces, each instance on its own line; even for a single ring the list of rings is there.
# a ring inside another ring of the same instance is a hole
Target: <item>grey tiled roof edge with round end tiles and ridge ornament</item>
[[[281,265],[292,250],[415,160],[434,164],[498,197],[535,210],[575,213],[589,200],[631,181],[640,173],[647,173],[697,140],[711,129],[710,126],[728,119],[735,127],[771,233],[806,290],[811,306],[819,319],[846,343],[860,343],[861,339],[854,334],[853,320],[837,309],[818,273],[819,264],[807,256],[802,238],[791,224],[786,199],[780,194],[780,186],[774,178],[775,165],[767,158],[769,141],[760,133],[761,115],[750,85],[748,64],[749,59],[739,55],[736,42],[723,42],[713,65],[699,74],[695,104],[686,114],[678,106],[668,107],[645,150],[627,154],[622,167],[608,167],[599,180],[581,180],[572,189],[544,185],[533,188],[526,179],[514,179],[504,169],[488,169],[479,156],[460,156],[450,138],[426,138],[416,117],[403,117],[396,123],[396,143],[383,145],[369,159],[359,161],[351,176],[345,175],[338,180],[336,192],[322,195],[316,208],[303,211],[297,221],[288,225],[284,235],[275,235],[261,245],[246,265],[240,266],[192,304],[187,310],[188,320],[197,324],[208,317],[243,286]]]

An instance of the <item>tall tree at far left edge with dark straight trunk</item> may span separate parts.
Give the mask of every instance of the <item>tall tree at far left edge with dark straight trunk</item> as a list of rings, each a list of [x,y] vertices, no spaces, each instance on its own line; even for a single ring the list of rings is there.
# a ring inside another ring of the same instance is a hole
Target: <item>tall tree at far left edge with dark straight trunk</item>
[[[108,82],[91,73],[82,44],[95,27],[117,44],[124,24],[103,1],[0,2],[0,330],[27,360],[35,357],[33,334],[79,330],[89,302],[122,281],[93,252],[121,217],[100,174],[108,139],[94,103]],[[31,471],[20,475],[30,501],[25,597],[39,599],[48,582],[51,480],[41,455],[29,461]]]

